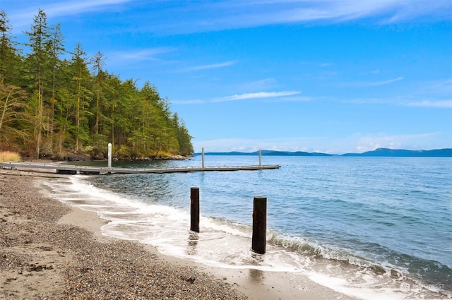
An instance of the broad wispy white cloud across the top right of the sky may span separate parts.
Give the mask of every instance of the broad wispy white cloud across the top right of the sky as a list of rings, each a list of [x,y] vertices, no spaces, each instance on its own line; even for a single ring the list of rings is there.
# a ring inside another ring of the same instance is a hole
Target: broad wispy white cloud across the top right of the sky
[[[411,20],[429,22],[448,20],[451,8],[450,0],[224,0],[188,8],[196,14],[203,12],[203,17],[201,20],[187,22],[188,26],[180,30],[222,30],[289,23],[340,23],[359,19],[368,19],[373,23],[400,23]],[[176,28],[173,27],[173,30]]]

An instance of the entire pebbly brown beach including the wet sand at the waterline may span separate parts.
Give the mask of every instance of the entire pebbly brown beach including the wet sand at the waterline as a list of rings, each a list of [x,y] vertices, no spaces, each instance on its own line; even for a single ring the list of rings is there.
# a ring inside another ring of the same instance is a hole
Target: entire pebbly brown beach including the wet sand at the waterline
[[[49,172],[0,170],[0,299],[352,299],[285,272],[213,268],[102,236]]]

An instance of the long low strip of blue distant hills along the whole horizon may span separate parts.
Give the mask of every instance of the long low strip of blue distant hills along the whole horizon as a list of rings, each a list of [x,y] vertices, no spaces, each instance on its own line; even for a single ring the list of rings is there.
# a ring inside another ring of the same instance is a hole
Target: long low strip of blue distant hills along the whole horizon
[[[373,151],[363,153],[345,153],[343,155],[327,154],[320,152],[289,152],[289,151],[273,151],[262,150],[262,156],[348,156],[348,157],[452,157],[452,148],[434,149],[434,150],[404,150],[404,149],[388,149],[378,148]],[[201,155],[201,153],[195,153]],[[259,155],[255,152],[206,152],[204,155]]]

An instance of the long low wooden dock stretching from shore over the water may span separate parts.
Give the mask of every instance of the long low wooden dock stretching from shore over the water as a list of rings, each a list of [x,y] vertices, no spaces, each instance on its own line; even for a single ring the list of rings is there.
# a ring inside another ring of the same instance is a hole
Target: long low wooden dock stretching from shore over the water
[[[167,167],[167,168],[149,168],[149,169],[133,169],[118,167],[86,167],[75,166],[71,164],[57,163],[37,163],[37,162],[0,162],[2,169],[39,169],[55,170],[57,174],[148,174],[148,173],[177,173],[177,172],[209,172],[209,171],[255,171],[263,169],[280,169],[280,165],[252,165],[252,166],[223,166],[223,167]]]

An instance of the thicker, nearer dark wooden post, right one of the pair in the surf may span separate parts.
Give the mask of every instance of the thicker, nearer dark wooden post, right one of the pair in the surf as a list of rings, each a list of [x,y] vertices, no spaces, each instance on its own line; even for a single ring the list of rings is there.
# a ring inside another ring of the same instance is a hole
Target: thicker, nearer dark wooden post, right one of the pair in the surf
[[[254,196],[253,238],[251,249],[259,254],[266,253],[267,198]]]

